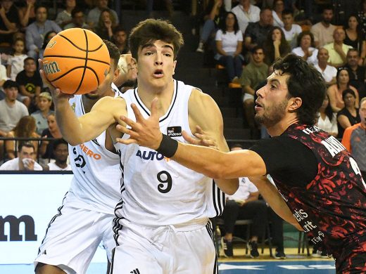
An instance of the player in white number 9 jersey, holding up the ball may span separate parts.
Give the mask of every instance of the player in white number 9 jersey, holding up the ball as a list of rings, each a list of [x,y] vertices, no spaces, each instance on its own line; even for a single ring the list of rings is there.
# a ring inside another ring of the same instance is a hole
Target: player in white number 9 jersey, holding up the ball
[[[228,151],[215,101],[173,79],[182,45],[182,34],[174,26],[163,20],[145,20],[130,34],[132,57],[137,60],[137,89],[126,91],[124,98],[102,98],[79,119],[67,103],[68,96],[58,89],[52,91],[65,140],[77,145],[106,130],[113,140],[128,138],[115,128],[122,124],[120,117],[134,119],[131,103],[149,117],[151,101],[158,98],[160,130],[184,141],[182,131],[193,137],[201,126],[219,150]],[[222,204],[213,202],[223,195],[215,190],[212,179],[148,148],[116,143],[115,149],[120,155],[122,199],[115,207],[117,247],[111,273],[218,273],[208,218],[220,214]],[[239,185],[237,179],[216,183],[228,194]]]

